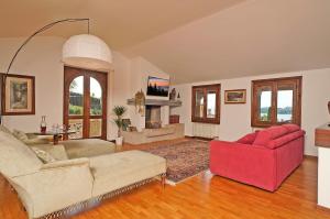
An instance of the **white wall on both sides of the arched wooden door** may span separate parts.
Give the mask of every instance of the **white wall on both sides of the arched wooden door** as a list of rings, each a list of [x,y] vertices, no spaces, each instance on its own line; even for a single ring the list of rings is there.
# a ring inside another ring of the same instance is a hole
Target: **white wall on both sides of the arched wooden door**
[[[0,70],[4,72],[13,53],[24,39],[0,39]],[[3,124],[25,132],[38,130],[41,116],[48,125],[63,123],[63,63],[62,46],[65,39],[38,36],[19,54],[10,74],[35,76],[35,114],[4,116]],[[125,105],[130,97],[130,61],[113,52],[113,68],[108,74],[108,139],[113,139],[117,128],[111,118],[116,105]]]

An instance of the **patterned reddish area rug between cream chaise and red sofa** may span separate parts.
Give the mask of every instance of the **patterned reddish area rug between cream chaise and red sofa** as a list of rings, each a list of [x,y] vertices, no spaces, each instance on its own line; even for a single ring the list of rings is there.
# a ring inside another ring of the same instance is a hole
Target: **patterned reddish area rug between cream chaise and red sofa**
[[[209,143],[205,141],[189,140],[142,151],[166,158],[169,183],[178,183],[209,168]]]

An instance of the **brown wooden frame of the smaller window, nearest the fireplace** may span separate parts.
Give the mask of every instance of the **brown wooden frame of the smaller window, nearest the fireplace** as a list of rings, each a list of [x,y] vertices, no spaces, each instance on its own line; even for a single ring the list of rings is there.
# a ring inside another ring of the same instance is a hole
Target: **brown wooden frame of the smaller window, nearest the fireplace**
[[[196,107],[196,94],[197,90],[201,90],[204,94],[204,117],[195,117],[195,107]],[[207,94],[208,91],[216,91],[216,117],[215,118],[207,118]],[[221,91],[221,84],[212,84],[212,85],[200,85],[200,86],[193,86],[191,87],[191,122],[199,122],[199,123],[212,123],[212,124],[220,124],[220,91]]]

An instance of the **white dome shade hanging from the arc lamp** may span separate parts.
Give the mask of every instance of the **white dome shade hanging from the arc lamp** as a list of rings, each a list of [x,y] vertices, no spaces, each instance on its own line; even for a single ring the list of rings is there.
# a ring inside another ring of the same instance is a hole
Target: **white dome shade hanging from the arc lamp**
[[[109,70],[112,55],[101,39],[90,34],[80,34],[74,35],[65,42],[62,61],[68,66]]]

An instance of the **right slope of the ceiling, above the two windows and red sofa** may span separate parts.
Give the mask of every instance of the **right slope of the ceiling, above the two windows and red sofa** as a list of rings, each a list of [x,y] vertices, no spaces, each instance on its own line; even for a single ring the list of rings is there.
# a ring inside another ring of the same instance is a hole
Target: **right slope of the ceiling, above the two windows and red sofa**
[[[330,67],[329,0],[249,0],[123,51],[176,84]]]

